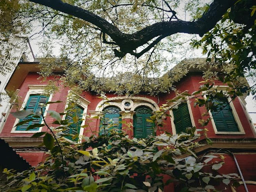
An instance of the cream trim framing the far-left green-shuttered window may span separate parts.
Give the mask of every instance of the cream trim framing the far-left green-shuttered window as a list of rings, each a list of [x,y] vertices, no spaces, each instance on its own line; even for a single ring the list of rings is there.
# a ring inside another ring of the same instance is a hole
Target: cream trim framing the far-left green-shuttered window
[[[27,85],[27,86],[29,87],[29,90],[26,93],[26,96],[23,100],[20,110],[25,108],[25,105],[26,105],[28,98],[31,94],[42,94],[46,85]],[[49,95],[48,101],[51,101],[51,98],[52,98],[52,94]],[[49,108],[49,104],[46,105],[43,116],[46,115],[48,108]],[[16,120],[13,124],[13,127],[10,131],[11,133],[36,133],[36,132],[41,132],[41,130],[42,130],[42,127],[39,127],[38,130],[15,130],[16,129],[15,125],[18,123],[19,120],[20,119],[16,118]],[[41,123],[44,123],[43,119],[42,119]]]

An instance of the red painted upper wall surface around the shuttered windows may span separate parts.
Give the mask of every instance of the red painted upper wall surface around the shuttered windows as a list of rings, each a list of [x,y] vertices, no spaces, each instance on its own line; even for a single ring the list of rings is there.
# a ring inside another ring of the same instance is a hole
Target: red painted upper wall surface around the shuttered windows
[[[41,81],[41,79],[38,78],[39,75],[36,72],[30,72],[28,73],[28,75],[26,76],[26,78],[24,79],[24,81],[22,82],[21,86],[19,87],[20,91],[18,93],[18,96],[20,97],[20,101],[23,101],[25,98],[25,95],[28,91],[28,86],[27,85],[39,85],[39,84],[47,84],[47,81],[52,79],[52,76],[47,77],[46,81]],[[179,92],[183,92],[185,90],[188,90],[189,93],[192,93],[193,91],[197,90],[199,88],[199,86],[202,83],[199,83],[200,81],[202,81],[202,77],[201,74],[190,74],[187,75],[185,77],[183,77],[179,82],[177,82],[175,84],[176,89]],[[48,110],[56,110],[57,112],[62,112],[64,110],[65,104],[66,104],[66,96],[68,93],[68,87],[65,87],[63,84],[59,83],[59,91],[57,91],[56,93],[53,94],[51,100],[55,101],[55,100],[62,100],[63,102],[61,103],[52,103],[49,105]],[[221,85],[222,83],[219,81],[216,81],[216,85]],[[98,98],[95,93],[93,92],[83,92],[81,95],[83,98],[85,98],[86,100],[90,101],[88,108],[87,108],[87,114],[89,114],[89,110],[95,110],[96,105],[98,104],[98,102],[101,101],[101,98]],[[112,93],[106,93],[107,97],[114,97],[117,96],[115,94]],[[158,97],[159,97],[159,103],[158,103],[158,98],[157,96],[150,96],[148,94],[138,94],[138,95],[134,95],[134,96],[142,96],[142,97],[147,97],[152,99],[155,103],[158,104],[158,106],[160,106],[161,104],[164,104],[166,102],[167,99],[171,99],[173,97],[175,97],[175,93],[174,91],[171,91],[170,93],[159,93]],[[201,118],[201,114],[203,112],[205,112],[205,108],[204,107],[194,107],[193,106],[193,99],[191,99],[190,102],[190,106],[191,106],[191,110],[192,110],[192,115],[194,118],[194,122],[197,128],[204,128],[201,127],[200,124],[198,123],[198,119]],[[207,126],[205,126],[205,128],[208,129],[207,135],[210,138],[255,138],[255,133],[254,131],[251,129],[251,126],[249,124],[249,121],[242,109],[242,106],[238,100],[238,98],[236,98],[233,101],[233,104],[236,108],[236,111],[239,115],[239,119],[242,123],[243,129],[245,131],[245,134],[243,135],[231,135],[231,134],[218,134],[216,135],[214,133],[214,130],[212,128],[212,124],[211,122],[209,122],[209,124]],[[11,111],[16,111],[15,107],[12,107]],[[99,128],[99,119],[92,119],[92,122],[89,122],[90,128],[92,129],[92,132],[94,134],[96,134],[96,132],[98,131]],[[131,122],[132,123],[132,119],[125,119],[127,122]],[[15,117],[12,116],[11,114],[8,116],[4,128],[2,130],[2,132],[0,133],[0,137],[30,137],[32,135],[32,133],[11,133],[11,129],[14,126],[14,121],[15,121]],[[46,122],[49,123],[49,125],[52,121],[54,121],[54,119],[50,116],[46,116]],[[54,125],[53,125],[54,126]],[[166,130],[168,132],[171,132],[171,121],[170,118],[167,117],[165,119],[165,125],[162,128],[162,130],[157,130],[156,134],[160,134],[163,133],[163,130]],[[42,128],[42,131],[46,131],[46,126],[44,126]],[[132,136],[132,130],[131,131],[127,131],[130,136]],[[88,131],[88,129],[84,129],[84,135],[86,136],[90,136],[91,135],[91,131]],[[202,139],[203,137],[201,137]],[[26,154],[26,158],[28,158],[27,156],[29,156],[28,154]],[[39,161],[38,161],[39,162]]]

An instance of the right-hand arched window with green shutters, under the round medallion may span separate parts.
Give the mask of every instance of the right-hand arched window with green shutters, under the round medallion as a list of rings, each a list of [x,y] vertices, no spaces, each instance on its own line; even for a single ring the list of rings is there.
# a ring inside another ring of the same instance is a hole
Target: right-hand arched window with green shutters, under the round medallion
[[[146,121],[150,119],[152,110],[146,106],[140,106],[135,109],[133,116],[134,137],[145,138],[153,134],[153,123]]]

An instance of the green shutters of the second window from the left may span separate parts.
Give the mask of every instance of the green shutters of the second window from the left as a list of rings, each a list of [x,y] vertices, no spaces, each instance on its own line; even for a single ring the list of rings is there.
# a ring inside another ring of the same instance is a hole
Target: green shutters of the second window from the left
[[[69,140],[73,140],[73,141],[78,140],[80,127],[82,123],[82,113],[83,113],[83,108],[75,105],[75,107],[70,109],[65,116],[65,119],[68,120],[68,122],[72,122],[69,126],[66,127],[65,130],[62,131],[63,133],[68,134],[65,137],[68,138]],[[73,122],[74,116],[76,116],[79,119],[76,123]],[[76,137],[72,138],[71,134],[76,135]]]

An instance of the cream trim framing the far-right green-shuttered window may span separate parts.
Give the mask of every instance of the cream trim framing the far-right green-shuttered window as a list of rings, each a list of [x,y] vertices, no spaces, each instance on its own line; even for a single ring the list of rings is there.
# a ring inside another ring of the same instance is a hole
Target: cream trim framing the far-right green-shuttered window
[[[228,87],[229,86],[212,86],[211,89],[212,90],[217,89],[218,92],[221,91],[221,90],[223,92],[227,92],[226,89]],[[203,97],[204,97],[204,99],[206,99],[206,95],[204,95]],[[237,114],[237,112],[235,110],[234,104],[233,104],[233,102],[232,102],[230,97],[227,98],[227,102],[229,103],[229,106],[230,106],[230,108],[232,110],[232,114],[233,114],[235,122],[237,123],[237,127],[238,127],[239,131],[235,131],[235,132],[233,132],[233,131],[218,131],[217,127],[215,125],[214,119],[212,117],[212,113],[209,110],[210,121],[211,121],[211,124],[212,124],[212,127],[213,127],[213,130],[214,130],[215,134],[245,134],[244,129],[243,129],[242,124],[241,124],[241,121],[239,119],[239,116],[238,116],[238,114]]]

